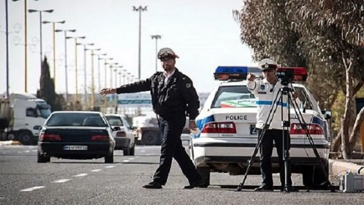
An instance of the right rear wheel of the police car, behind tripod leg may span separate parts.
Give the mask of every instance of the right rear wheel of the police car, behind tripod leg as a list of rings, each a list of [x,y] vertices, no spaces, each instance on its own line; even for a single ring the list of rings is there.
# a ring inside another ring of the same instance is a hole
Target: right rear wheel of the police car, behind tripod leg
[[[321,169],[321,166],[307,166],[302,170],[302,183],[306,187],[311,187],[313,189],[327,189],[328,183],[328,173],[329,167],[327,164],[325,166],[325,172],[327,176],[325,177],[324,171]]]

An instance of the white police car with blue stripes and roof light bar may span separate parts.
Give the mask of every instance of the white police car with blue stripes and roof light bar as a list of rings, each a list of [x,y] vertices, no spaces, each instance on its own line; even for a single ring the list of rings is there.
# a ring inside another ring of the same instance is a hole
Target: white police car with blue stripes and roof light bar
[[[302,79],[302,76],[307,77],[304,68],[293,69],[296,80]],[[189,142],[190,157],[205,182],[202,187],[210,185],[211,172],[244,175],[248,160],[253,155],[258,142],[255,130],[257,105],[254,94],[250,93],[246,86],[248,72],[261,74],[257,67],[226,66],[219,66],[214,73],[215,80],[223,82],[207,97],[196,118],[198,129],[191,134]],[[308,132],[320,158],[327,162],[331,144],[327,120],[331,119],[332,114],[318,107],[317,101],[304,85],[296,81],[292,85],[299,94],[299,107],[305,122],[309,124]],[[292,173],[302,174],[305,186],[318,188],[327,179],[317,162],[305,130],[300,126],[293,106],[290,107]],[[258,152],[249,174],[261,174],[259,156]],[[272,171],[279,173],[276,148],[272,153]]]

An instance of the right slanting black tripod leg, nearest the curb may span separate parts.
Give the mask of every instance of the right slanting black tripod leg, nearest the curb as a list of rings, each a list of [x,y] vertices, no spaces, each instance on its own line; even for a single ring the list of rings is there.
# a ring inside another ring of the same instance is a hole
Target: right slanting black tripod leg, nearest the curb
[[[322,171],[323,171],[323,173],[324,173],[324,175],[325,175],[325,178],[327,178],[327,183],[328,183],[328,186],[329,186],[329,188],[330,188],[330,191],[331,191],[331,192],[335,192],[335,189],[334,189],[333,185],[332,185],[332,184],[331,184],[331,182],[330,182],[329,175],[328,175],[328,173],[327,173],[327,172],[326,172],[326,170],[325,170],[325,166],[324,166],[323,160],[321,160],[320,154],[318,154],[318,151],[317,151],[317,149],[316,149],[316,147],[315,147],[315,145],[314,145],[314,142],[313,142],[312,136],[309,134],[309,132],[308,132],[308,130],[307,130],[307,124],[306,124],[306,122],[305,122],[304,117],[302,116],[302,113],[301,113],[300,109],[298,109],[298,112],[297,112],[298,104],[297,104],[296,100],[292,100],[292,97],[291,97],[291,96],[289,96],[289,99],[288,99],[288,100],[289,100],[290,102],[294,102],[294,105],[295,105],[295,106],[293,106],[293,109],[294,109],[294,112],[295,112],[295,113],[296,113],[296,115],[297,115],[298,121],[300,122],[301,127],[302,127],[302,128],[304,129],[304,131],[305,131],[305,135],[306,135],[306,137],[308,138],[308,141],[309,141],[309,143],[310,143],[310,145],[311,145],[311,148],[312,148],[312,150],[313,150],[313,153],[314,153],[314,155],[315,155],[315,157],[316,157],[316,159],[317,159],[318,164],[320,164],[320,166],[321,166],[321,169],[322,169]],[[292,103],[292,104],[293,104],[293,103]],[[296,107],[297,107],[297,108],[296,108]],[[329,165],[328,165],[328,162],[327,162],[327,166],[329,166]]]

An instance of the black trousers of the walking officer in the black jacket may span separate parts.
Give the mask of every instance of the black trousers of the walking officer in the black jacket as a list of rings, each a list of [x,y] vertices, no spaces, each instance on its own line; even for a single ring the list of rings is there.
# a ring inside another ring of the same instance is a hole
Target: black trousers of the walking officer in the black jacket
[[[162,146],[159,167],[154,174],[154,182],[158,182],[161,185],[166,184],[173,158],[177,161],[179,167],[181,167],[182,173],[186,176],[190,184],[201,179],[192,160],[182,146],[181,134],[185,124],[185,115],[178,115],[169,119],[159,118]]]

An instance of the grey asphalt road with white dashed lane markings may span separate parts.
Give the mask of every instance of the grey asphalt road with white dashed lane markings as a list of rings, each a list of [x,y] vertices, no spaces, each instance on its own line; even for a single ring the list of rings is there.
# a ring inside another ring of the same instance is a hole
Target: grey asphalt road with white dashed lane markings
[[[234,192],[210,186],[206,189],[184,190],[187,180],[174,162],[167,185],[162,190],[146,190],[157,167],[158,146],[138,146],[135,156],[115,152],[115,163],[99,160],[51,159],[51,163],[36,163],[34,146],[0,146],[1,205],[104,205],[104,204],[363,204],[364,194],[304,192],[255,193],[252,190]],[[237,185],[243,176],[212,174],[213,185]],[[276,185],[279,178],[274,176]],[[260,176],[250,176],[246,184],[258,185]],[[301,185],[300,175],[293,181]]]

